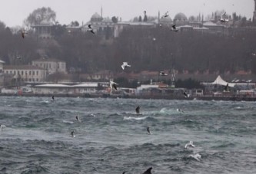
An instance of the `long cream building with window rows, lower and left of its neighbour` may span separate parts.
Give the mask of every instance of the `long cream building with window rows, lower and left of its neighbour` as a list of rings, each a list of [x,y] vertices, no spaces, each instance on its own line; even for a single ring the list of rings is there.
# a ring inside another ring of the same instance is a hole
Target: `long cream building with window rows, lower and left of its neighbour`
[[[42,67],[32,65],[6,65],[3,67],[5,74],[12,74],[17,80],[23,82],[45,81],[46,72]]]

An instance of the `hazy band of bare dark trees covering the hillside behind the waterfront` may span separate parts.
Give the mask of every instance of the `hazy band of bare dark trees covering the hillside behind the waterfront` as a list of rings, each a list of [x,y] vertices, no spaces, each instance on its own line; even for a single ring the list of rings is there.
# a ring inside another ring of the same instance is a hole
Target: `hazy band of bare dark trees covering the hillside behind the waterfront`
[[[32,31],[23,39],[0,22],[0,58],[6,64],[28,64],[42,56],[67,62],[68,71],[92,73],[101,70],[162,71],[249,71],[256,73],[256,34],[173,32],[170,28],[125,28],[118,38],[105,40],[90,32],[68,32],[55,25],[52,40],[40,40]],[[16,57],[21,56],[22,60]]]

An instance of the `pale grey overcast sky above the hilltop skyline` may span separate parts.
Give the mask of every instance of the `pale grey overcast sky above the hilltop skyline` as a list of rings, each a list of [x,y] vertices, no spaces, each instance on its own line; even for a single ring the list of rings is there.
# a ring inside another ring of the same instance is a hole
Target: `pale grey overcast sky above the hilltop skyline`
[[[122,21],[129,21],[138,15],[157,16],[169,11],[171,18],[178,12],[187,17],[199,13],[208,15],[216,10],[236,12],[238,15],[252,18],[254,0],[0,0],[0,21],[8,27],[21,26],[25,18],[36,8],[50,7],[56,12],[56,20],[62,25],[71,21],[87,22],[91,15],[98,12],[101,6],[103,17],[118,16]]]

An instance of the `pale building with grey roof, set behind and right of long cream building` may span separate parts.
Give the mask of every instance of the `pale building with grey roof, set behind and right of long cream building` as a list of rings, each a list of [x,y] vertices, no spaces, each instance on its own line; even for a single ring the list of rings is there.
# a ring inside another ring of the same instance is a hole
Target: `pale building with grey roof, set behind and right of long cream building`
[[[32,61],[32,65],[36,67],[42,67],[48,74],[54,73],[66,73],[66,63],[65,61],[59,61],[57,59],[46,59],[41,58],[35,61]]]

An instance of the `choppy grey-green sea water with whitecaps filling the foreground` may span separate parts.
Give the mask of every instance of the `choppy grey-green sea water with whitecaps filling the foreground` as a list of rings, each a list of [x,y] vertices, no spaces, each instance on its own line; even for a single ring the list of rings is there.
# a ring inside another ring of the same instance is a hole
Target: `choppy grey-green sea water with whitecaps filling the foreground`
[[[1,97],[0,173],[256,173],[255,104]]]

